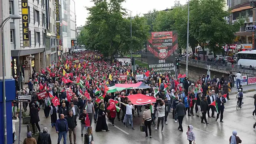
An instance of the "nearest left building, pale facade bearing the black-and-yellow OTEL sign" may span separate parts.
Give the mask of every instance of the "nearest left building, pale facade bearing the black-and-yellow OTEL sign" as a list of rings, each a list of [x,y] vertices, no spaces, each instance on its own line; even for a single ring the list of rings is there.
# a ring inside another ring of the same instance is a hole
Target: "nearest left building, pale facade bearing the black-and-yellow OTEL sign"
[[[9,0],[9,14],[20,14],[19,20],[10,20],[10,49],[14,71],[21,70],[27,82],[33,71],[44,67],[45,39],[45,1],[44,0]],[[21,69],[19,69],[22,67]]]

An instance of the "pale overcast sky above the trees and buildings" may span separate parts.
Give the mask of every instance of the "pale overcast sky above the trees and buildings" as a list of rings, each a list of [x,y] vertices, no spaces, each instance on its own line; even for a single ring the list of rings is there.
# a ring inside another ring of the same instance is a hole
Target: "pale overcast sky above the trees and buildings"
[[[85,6],[93,6],[91,0],[74,0],[76,6],[76,23],[77,26],[84,26],[86,18],[88,17],[88,11]],[[185,4],[187,0],[180,0],[180,4]],[[154,8],[157,10],[164,10],[174,6],[175,0],[126,0],[122,4],[123,8],[132,11],[132,16],[136,14],[144,14]]]

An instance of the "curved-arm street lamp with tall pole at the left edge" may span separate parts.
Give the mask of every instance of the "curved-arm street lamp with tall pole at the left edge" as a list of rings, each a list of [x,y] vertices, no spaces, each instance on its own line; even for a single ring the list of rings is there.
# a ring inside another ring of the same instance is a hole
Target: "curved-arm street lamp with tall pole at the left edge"
[[[3,103],[4,103],[4,144],[7,144],[7,124],[6,124],[6,101],[5,101],[5,53],[4,53],[4,35],[3,35],[3,27],[5,23],[9,19],[20,19],[21,16],[19,14],[13,14],[9,17],[5,18],[0,25],[1,32],[2,32],[2,61],[3,61]]]

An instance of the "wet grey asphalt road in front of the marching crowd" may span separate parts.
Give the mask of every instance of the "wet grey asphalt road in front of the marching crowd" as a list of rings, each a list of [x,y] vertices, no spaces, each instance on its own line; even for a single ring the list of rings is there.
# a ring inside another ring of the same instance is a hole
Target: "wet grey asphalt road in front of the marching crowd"
[[[193,131],[196,136],[197,144],[228,144],[229,137],[232,135],[232,131],[236,130],[242,144],[256,144],[256,130],[252,128],[256,121],[256,116],[252,115],[254,110],[254,99],[252,98],[256,92],[244,93],[244,104],[242,109],[236,110],[236,95],[230,95],[231,100],[225,104],[224,110],[224,123],[216,122],[215,118],[207,118],[209,125],[202,124],[201,119],[196,116],[188,117],[187,115],[183,120],[184,132],[178,131],[178,123],[172,119],[172,114],[168,115],[168,125],[164,124],[163,133],[156,131],[152,126],[153,138],[145,138],[145,132],[140,131],[140,125],[142,123],[142,117],[133,119],[135,130],[131,128],[125,128],[121,122],[115,119],[115,126],[108,123],[109,132],[95,132],[95,124],[93,121],[93,137],[95,144],[155,144],[155,143],[166,143],[166,144],[188,144],[186,129],[187,125],[194,127]],[[142,111],[143,112],[143,111]],[[141,115],[142,115],[141,112]],[[195,113],[195,109],[194,109]],[[210,112],[211,113],[211,112]],[[40,110],[40,128],[48,128],[48,132],[51,134],[52,143],[57,143],[57,134],[55,128],[51,127],[51,119],[45,118],[43,110]],[[216,114],[214,115],[216,116]],[[78,120],[76,128],[77,132],[77,144],[84,144],[84,137],[81,137],[81,126]],[[161,124],[160,124],[161,127]],[[18,136],[18,123],[16,124],[16,135]],[[26,138],[26,125],[21,126],[21,141]],[[72,135],[73,136],[73,135]],[[63,142],[61,141],[61,144]],[[15,141],[18,144],[18,141]],[[22,143],[21,143],[22,144]],[[67,136],[67,144],[69,144],[69,138]]]

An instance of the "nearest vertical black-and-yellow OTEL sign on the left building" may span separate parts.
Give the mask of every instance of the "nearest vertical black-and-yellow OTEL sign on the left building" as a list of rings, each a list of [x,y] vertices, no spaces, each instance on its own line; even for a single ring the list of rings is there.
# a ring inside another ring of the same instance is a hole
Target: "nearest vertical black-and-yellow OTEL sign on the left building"
[[[21,0],[21,14],[23,47],[29,47],[29,6],[27,0]]]

